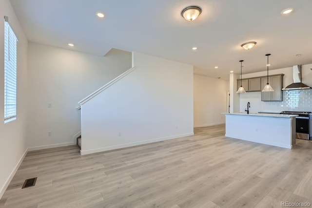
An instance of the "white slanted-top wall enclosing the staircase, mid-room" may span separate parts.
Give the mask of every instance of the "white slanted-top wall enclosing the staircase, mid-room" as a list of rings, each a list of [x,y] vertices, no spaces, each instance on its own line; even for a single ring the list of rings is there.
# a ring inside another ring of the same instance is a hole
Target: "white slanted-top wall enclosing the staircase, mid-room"
[[[81,154],[194,134],[193,66],[133,56],[133,72],[82,105]]]

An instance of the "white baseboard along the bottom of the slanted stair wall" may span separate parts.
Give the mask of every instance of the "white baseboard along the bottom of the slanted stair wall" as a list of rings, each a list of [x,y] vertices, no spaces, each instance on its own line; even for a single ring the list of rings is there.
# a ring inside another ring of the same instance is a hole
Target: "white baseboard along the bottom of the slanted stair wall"
[[[175,135],[175,136],[167,136],[167,137],[162,137],[162,138],[150,139],[150,140],[139,141],[139,142],[133,142],[133,143],[127,143],[127,144],[122,144],[122,145],[115,145],[115,146],[110,146],[110,147],[92,149],[92,150],[85,150],[85,151],[80,150],[80,154],[85,155],[85,154],[92,154],[92,153],[97,153],[97,152],[101,152],[101,151],[117,150],[117,149],[121,149],[121,148],[133,147],[133,146],[137,146],[137,145],[159,142],[159,141],[164,141],[164,140],[168,140],[168,139],[176,139],[176,138],[180,138],[180,137],[184,137],[184,136],[192,136],[192,135],[194,135],[194,132],[179,134],[179,135]]]

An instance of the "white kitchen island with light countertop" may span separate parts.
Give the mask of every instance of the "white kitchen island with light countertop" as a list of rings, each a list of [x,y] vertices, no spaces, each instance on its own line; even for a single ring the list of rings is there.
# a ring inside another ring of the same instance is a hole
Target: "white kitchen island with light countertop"
[[[292,149],[297,115],[273,113],[225,114],[225,136]]]

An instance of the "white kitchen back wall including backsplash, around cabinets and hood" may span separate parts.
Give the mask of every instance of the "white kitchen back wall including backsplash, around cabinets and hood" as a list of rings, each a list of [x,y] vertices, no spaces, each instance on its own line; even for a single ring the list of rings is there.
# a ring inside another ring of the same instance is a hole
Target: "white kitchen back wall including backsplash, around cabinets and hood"
[[[302,82],[312,86],[312,64],[302,65]],[[292,84],[292,67],[270,70],[269,75],[284,74],[284,87]],[[255,76],[266,76],[267,71],[243,75],[243,78]],[[247,102],[250,102],[250,112],[259,111],[276,112],[281,111],[312,111],[312,90],[284,91],[283,101],[264,102],[261,101],[261,92],[250,92],[240,94],[240,112],[245,112]],[[293,100],[296,103],[293,103]]]

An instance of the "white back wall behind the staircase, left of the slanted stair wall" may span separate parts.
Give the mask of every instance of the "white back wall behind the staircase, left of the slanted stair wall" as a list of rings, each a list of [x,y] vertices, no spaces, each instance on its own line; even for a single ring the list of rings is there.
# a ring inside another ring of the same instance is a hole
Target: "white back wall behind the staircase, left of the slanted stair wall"
[[[30,150],[72,145],[80,131],[78,101],[131,68],[131,53],[116,49],[98,57],[29,43],[28,53]]]

